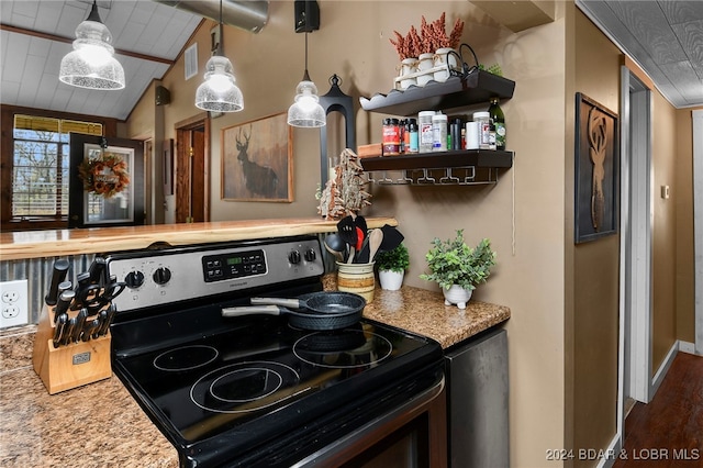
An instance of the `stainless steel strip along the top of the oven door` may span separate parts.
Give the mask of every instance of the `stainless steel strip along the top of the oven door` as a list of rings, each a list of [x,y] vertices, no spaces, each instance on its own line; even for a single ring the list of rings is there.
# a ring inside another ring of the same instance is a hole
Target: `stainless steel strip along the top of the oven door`
[[[394,408],[390,412],[382,414],[364,424],[361,427],[356,431],[345,435],[344,437],[338,438],[334,443],[321,448],[298,461],[294,465],[291,465],[291,468],[303,468],[303,467],[312,467],[312,466],[324,466],[326,460],[335,459],[335,463],[343,463],[346,460],[338,460],[338,454],[341,453],[352,453],[354,454],[353,447],[355,444],[360,443],[364,438],[368,437],[369,433],[372,433],[378,427],[386,426],[389,423],[392,423],[394,420],[401,419],[408,414],[415,413],[415,410],[422,409],[428,405],[433,400],[442,394],[445,388],[445,379],[444,372],[442,376],[437,378],[435,383],[416,394],[414,398],[409,400],[406,403]],[[445,415],[446,416],[446,415]],[[445,417],[443,416],[443,419]],[[403,424],[412,421],[415,417],[415,414],[412,417],[408,417],[408,421],[404,421]]]

